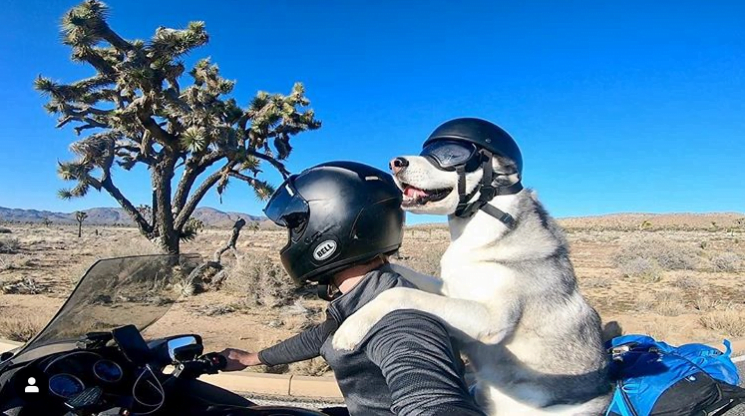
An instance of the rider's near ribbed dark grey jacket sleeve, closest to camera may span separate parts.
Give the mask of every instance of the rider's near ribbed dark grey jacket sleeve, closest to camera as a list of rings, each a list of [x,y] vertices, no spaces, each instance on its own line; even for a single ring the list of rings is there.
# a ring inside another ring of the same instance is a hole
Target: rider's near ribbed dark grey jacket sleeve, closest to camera
[[[392,312],[373,327],[364,348],[385,377],[395,414],[485,415],[468,393],[460,357],[437,318]]]

